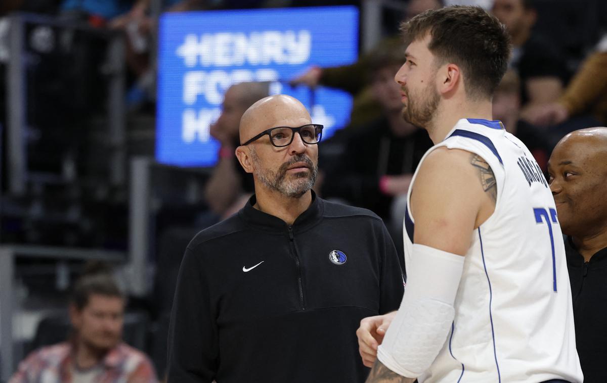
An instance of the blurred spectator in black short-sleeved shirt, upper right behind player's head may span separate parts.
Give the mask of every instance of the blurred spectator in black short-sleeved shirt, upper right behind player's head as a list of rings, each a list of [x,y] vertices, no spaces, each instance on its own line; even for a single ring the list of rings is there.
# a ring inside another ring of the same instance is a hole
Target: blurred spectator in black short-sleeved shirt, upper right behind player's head
[[[521,79],[523,107],[556,101],[565,85],[566,64],[555,45],[532,32],[537,18],[533,1],[495,0],[492,12],[512,37],[510,68]]]

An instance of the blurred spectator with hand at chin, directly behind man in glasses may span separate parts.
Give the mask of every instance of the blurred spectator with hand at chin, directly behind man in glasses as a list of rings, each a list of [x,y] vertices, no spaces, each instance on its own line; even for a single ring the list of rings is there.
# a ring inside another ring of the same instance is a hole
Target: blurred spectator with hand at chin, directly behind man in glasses
[[[211,136],[219,141],[221,148],[219,162],[206,184],[205,198],[219,219],[236,213],[253,194],[253,177],[242,169],[235,150],[240,145],[240,118],[254,102],[268,96],[268,92],[268,84],[264,82],[232,85],[223,95],[222,114],[211,125]]]

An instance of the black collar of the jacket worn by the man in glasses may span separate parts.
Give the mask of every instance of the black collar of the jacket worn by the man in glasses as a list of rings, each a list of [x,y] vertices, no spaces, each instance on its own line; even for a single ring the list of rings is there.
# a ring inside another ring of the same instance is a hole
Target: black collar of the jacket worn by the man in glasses
[[[322,219],[324,210],[323,201],[316,196],[316,193],[314,193],[313,190],[310,191],[312,193],[312,203],[310,204],[310,207],[301,213],[295,222],[293,222],[294,233],[305,231],[318,224]],[[285,233],[285,231],[288,230],[288,225],[282,219],[254,208],[253,205],[256,204],[256,202],[257,199],[255,195],[251,196],[249,201],[246,202],[245,207],[239,212],[240,218],[242,218],[246,224],[264,231],[273,231],[275,233]]]

